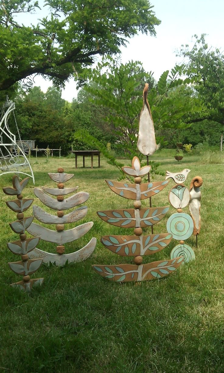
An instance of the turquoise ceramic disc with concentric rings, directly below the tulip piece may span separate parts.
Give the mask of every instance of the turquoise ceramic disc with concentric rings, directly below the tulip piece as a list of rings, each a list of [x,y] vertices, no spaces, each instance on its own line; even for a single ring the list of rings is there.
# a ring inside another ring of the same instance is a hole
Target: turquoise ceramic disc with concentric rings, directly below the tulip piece
[[[194,229],[192,217],[184,213],[172,214],[167,220],[167,232],[171,233],[174,239],[189,238]]]

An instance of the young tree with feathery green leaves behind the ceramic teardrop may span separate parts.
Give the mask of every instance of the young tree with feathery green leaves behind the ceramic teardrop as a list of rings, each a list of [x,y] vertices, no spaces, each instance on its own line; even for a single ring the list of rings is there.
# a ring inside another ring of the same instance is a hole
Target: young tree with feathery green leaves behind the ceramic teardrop
[[[184,66],[175,66],[170,75],[164,72],[156,85],[151,73],[144,71],[140,62],[119,63],[107,56],[98,63],[93,70],[86,69],[83,78],[88,78],[90,84],[85,86],[89,94],[88,100],[98,107],[108,109],[105,122],[112,128],[115,136],[116,151],[123,151],[131,160],[134,156],[142,159],[137,150],[137,134],[139,127],[139,113],[142,107],[142,90],[145,82],[149,82],[148,100],[155,123],[157,142],[164,144],[164,138],[159,129],[186,128],[184,117],[189,117],[201,106],[195,97],[189,95],[186,100],[184,94],[175,94],[177,89],[187,89],[190,79],[180,79],[184,73]],[[83,134],[82,139],[88,142]],[[157,166],[152,164],[156,172]]]

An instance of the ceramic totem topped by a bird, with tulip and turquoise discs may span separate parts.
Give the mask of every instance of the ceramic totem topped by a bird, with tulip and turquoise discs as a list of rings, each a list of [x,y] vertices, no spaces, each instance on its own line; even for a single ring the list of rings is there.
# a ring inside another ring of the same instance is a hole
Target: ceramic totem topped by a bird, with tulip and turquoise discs
[[[177,213],[172,214],[167,220],[167,231],[172,234],[174,239],[180,240],[180,244],[175,246],[170,254],[171,259],[176,256],[183,256],[184,262],[188,263],[195,259],[193,249],[184,243],[184,240],[189,238],[193,233],[193,220],[189,214],[183,213],[183,208],[189,204],[190,193],[187,187],[180,182],[180,178],[186,179],[187,171],[183,170],[181,173],[169,173],[172,179],[177,182],[169,192],[169,202],[177,209]]]

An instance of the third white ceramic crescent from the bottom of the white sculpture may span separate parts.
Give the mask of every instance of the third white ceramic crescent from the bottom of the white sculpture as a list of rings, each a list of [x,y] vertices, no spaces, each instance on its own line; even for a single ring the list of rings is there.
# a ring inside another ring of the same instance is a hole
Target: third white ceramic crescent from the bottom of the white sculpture
[[[33,214],[39,222],[44,224],[66,224],[66,223],[75,223],[80,219],[83,219],[87,214],[88,207],[83,206],[71,213],[58,217],[52,214],[47,213],[41,207],[34,205]]]

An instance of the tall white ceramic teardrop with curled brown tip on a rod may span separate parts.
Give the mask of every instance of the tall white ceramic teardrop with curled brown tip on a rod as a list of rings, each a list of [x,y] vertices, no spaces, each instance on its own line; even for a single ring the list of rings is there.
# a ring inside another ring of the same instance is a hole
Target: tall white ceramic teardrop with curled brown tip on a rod
[[[152,156],[156,151],[154,123],[147,100],[148,89],[149,84],[146,83],[143,90],[143,108],[139,118],[139,139],[137,142],[137,147],[144,156]]]

